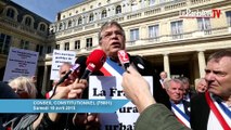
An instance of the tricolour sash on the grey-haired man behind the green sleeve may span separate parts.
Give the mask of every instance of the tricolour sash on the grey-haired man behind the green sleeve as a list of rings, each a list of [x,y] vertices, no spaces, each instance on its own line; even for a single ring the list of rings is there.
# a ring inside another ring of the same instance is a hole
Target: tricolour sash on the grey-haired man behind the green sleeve
[[[178,120],[182,122],[188,128],[191,128],[190,126],[190,117],[183,113],[180,108],[178,108],[172,102],[171,103],[171,110],[177,116]]]

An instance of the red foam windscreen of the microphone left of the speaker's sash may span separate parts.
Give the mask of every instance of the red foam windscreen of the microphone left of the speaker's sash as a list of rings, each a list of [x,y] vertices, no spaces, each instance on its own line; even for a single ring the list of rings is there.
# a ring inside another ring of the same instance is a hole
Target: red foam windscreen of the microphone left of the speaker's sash
[[[87,58],[86,65],[94,65],[94,70],[99,70],[106,61],[106,54],[102,50],[94,50]]]

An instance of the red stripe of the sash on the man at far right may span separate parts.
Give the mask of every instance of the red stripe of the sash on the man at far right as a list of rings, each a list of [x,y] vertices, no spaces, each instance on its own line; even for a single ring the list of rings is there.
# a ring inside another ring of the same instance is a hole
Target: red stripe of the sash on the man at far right
[[[228,120],[226,120],[223,118],[223,116],[221,115],[221,113],[219,112],[219,109],[221,109],[221,108],[218,108],[218,107],[220,107],[220,106],[218,105],[218,107],[217,107],[215,105],[215,103],[214,103],[215,101],[211,99],[211,96],[209,95],[208,92],[205,93],[205,99],[206,99],[207,104],[210,107],[211,112],[215,114],[215,116],[217,117],[218,121],[222,126],[223,130],[231,130],[231,128],[227,123]]]

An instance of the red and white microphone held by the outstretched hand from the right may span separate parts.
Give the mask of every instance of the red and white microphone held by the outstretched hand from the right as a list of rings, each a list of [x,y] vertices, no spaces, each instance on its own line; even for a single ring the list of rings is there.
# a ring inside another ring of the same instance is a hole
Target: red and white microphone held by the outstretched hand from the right
[[[130,66],[128,53],[125,50],[119,50],[117,52],[117,55],[118,55],[120,64],[123,65],[125,70],[127,70],[127,68]]]

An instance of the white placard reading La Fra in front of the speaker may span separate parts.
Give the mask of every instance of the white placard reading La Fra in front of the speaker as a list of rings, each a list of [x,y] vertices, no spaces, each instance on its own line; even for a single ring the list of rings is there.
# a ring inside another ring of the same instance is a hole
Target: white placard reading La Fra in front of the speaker
[[[153,77],[145,76],[153,92]],[[123,100],[121,77],[90,76],[89,78],[89,99],[90,100]],[[137,107],[128,102],[116,113],[99,114],[101,130],[134,130],[134,122],[139,117]],[[115,129],[116,128],[116,129]]]

